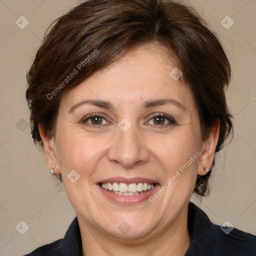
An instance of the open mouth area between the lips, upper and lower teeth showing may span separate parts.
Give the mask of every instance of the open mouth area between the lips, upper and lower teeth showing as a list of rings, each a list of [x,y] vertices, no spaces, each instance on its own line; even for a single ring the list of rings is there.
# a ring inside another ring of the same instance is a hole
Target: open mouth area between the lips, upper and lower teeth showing
[[[154,183],[99,183],[99,185],[112,193],[118,194],[118,195],[138,195],[142,193],[146,193],[153,189]]]

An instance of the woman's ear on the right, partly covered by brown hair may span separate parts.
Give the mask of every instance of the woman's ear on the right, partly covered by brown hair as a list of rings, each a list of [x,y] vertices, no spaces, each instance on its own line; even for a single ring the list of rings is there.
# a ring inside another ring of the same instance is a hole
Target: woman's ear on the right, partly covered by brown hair
[[[209,169],[213,163],[215,148],[218,142],[219,126],[220,123],[219,120],[217,120],[210,132],[210,135],[202,143],[201,155],[197,171],[198,175],[205,175],[207,173],[205,169]]]

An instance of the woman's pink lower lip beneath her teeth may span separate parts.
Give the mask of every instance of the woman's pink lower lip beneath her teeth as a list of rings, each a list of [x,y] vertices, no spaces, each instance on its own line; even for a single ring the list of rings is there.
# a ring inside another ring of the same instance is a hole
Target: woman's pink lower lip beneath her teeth
[[[99,190],[103,193],[104,196],[106,196],[108,199],[118,204],[137,204],[145,200],[149,200],[149,197],[155,193],[155,190],[157,189],[158,186],[159,185],[156,184],[151,190],[142,194],[118,195],[98,185]]]

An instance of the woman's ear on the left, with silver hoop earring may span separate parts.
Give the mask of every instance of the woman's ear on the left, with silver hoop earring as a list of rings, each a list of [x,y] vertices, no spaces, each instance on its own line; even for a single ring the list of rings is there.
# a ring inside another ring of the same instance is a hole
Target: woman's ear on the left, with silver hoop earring
[[[59,174],[60,173],[60,169],[59,169],[59,165],[58,165],[58,161],[57,161],[57,157],[56,157],[56,144],[55,144],[55,140],[53,137],[48,138],[45,135],[44,129],[42,128],[41,124],[38,124],[38,130],[43,142],[43,147],[44,147],[44,153],[45,153],[45,158],[46,158],[46,164],[47,164],[47,168],[49,170],[52,169],[52,166],[54,166],[54,173],[55,174]]]

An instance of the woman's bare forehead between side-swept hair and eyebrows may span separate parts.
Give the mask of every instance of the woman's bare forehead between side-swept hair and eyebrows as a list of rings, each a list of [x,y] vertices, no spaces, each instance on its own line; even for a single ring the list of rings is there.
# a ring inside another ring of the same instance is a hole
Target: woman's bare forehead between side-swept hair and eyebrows
[[[71,89],[62,102],[71,107],[78,100],[92,98],[130,107],[141,100],[171,97],[188,107],[193,104],[192,95],[182,76],[175,80],[170,75],[173,68],[175,57],[164,46],[141,45]]]

